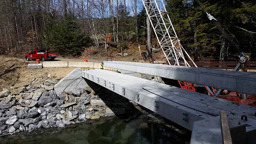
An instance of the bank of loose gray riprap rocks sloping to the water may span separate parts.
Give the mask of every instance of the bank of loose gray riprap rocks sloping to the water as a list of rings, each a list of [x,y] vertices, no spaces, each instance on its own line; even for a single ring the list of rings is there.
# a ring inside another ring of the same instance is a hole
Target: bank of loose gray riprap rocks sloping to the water
[[[51,77],[32,78],[30,83],[15,84],[10,90],[0,92],[1,136],[120,115],[133,106],[116,93],[109,90],[95,93],[90,87],[56,95],[53,89],[57,81],[49,80]]]

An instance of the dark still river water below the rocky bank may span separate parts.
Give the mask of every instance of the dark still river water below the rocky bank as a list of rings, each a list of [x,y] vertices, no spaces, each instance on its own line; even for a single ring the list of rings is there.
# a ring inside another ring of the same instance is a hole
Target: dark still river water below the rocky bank
[[[136,118],[80,123],[67,128],[22,132],[0,138],[3,144],[186,144],[189,137],[156,123]]]

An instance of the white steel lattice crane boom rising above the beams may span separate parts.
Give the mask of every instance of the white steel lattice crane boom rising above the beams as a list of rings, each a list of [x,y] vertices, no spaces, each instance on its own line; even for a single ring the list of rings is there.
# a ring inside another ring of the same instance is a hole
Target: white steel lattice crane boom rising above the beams
[[[181,46],[180,40],[178,39],[170,17],[165,9],[163,0],[142,1],[149,17],[149,21],[156,34],[158,43],[160,44],[168,63],[171,65],[170,61],[174,61],[174,65],[189,67],[190,65],[186,61],[183,52],[186,53],[189,60],[193,63],[194,61]]]

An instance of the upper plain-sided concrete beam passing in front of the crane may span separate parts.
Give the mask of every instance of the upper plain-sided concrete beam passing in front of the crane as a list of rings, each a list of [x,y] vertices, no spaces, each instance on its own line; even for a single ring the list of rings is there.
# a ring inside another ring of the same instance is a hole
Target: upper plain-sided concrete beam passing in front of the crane
[[[256,73],[254,72],[125,61],[105,61],[104,66],[256,95]]]

